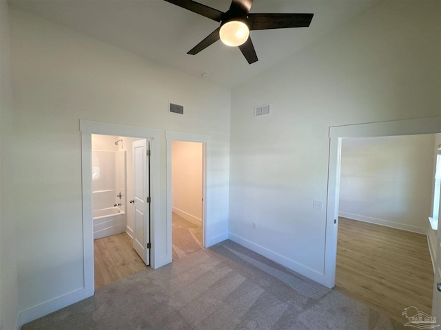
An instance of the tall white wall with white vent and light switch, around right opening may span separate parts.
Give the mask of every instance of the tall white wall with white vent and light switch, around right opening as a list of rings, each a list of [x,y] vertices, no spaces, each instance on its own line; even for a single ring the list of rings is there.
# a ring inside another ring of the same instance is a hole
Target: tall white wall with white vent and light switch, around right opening
[[[440,1],[380,1],[232,91],[231,239],[324,281],[329,126],[440,115],[440,21]]]

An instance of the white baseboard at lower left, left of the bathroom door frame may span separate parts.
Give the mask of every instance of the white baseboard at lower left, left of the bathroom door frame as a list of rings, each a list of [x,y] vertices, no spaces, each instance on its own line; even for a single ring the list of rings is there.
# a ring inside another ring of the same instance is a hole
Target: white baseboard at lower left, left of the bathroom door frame
[[[69,294],[65,294],[58,298],[46,301],[45,303],[41,303],[37,306],[30,307],[21,311],[19,313],[18,327],[21,329],[23,325],[33,320],[37,320],[37,318],[41,318],[45,315],[48,315],[54,311],[58,311],[64,307],[68,307],[74,303],[78,303],[79,301],[89,298],[94,295],[93,289],[85,289],[84,287],[78,289],[74,292],[70,292]]]

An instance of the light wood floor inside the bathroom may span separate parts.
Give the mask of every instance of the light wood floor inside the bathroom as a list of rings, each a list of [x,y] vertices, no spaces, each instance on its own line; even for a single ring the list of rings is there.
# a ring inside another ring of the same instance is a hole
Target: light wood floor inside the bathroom
[[[125,232],[94,240],[95,290],[147,267]]]

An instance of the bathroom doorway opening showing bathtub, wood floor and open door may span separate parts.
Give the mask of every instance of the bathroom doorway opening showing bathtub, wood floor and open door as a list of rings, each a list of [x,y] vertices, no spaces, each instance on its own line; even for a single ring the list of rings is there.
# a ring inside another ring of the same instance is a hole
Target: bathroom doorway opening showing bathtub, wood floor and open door
[[[148,142],[139,137],[92,134],[95,289],[144,270],[150,263],[145,243],[142,244],[145,249],[136,250],[139,236],[141,241],[150,242],[150,237],[144,237],[149,230],[143,228],[150,228],[148,214],[145,219],[140,219],[139,212],[136,212],[139,205],[135,208],[134,204],[138,198],[135,192],[148,195],[150,191],[148,166],[142,168],[147,162],[139,159],[141,154],[146,157],[145,150],[139,153],[139,145],[145,149]],[[141,163],[141,170],[136,170],[135,163]],[[144,209],[148,212],[148,206]],[[147,260],[144,260],[146,256]]]

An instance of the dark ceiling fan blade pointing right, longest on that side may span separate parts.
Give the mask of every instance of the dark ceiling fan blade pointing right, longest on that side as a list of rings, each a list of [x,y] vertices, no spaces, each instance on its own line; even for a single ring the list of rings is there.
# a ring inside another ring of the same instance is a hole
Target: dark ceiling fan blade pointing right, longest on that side
[[[314,14],[248,14],[249,30],[304,28]]]

